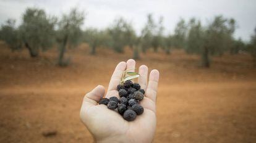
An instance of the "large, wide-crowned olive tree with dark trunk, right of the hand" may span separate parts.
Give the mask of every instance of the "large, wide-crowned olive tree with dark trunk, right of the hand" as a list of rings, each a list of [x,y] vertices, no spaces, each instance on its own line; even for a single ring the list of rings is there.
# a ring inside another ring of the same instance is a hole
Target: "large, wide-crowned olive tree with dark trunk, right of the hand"
[[[221,55],[232,46],[234,25],[232,18],[216,16],[207,27],[202,27],[199,20],[192,18],[189,22],[186,51],[200,54],[202,66],[210,67],[210,55]]]

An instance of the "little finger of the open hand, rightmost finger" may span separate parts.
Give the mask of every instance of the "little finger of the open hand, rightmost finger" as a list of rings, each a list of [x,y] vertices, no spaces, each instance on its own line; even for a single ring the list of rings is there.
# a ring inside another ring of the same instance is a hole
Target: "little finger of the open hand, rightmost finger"
[[[156,93],[158,88],[158,80],[159,80],[159,71],[151,70],[150,77],[148,81],[148,88],[146,91],[146,96],[151,99],[153,102],[156,102]]]

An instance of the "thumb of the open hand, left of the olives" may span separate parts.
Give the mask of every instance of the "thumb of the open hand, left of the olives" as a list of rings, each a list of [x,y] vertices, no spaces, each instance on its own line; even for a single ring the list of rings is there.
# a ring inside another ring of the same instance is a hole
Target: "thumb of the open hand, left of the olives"
[[[96,86],[95,89],[88,92],[85,95],[85,97],[83,97],[81,112],[83,109],[97,105],[100,99],[104,96],[104,94],[105,94],[105,88],[104,86],[101,86],[101,85]]]

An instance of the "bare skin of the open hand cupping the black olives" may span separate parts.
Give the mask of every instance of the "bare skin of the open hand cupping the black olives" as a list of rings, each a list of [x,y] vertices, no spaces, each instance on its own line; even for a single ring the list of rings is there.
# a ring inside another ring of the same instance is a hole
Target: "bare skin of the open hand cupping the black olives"
[[[117,64],[109,82],[106,98],[118,96],[116,89],[120,83],[122,73],[126,69],[135,68],[135,60]],[[137,116],[134,121],[126,121],[106,105],[98,105],[105,94],[105,88],[101,85],[88,92],[83,98],[80,110],[80,118],[96,142],[152,142],[156,130],[156,93],[158,89],[159,71],[151,70],[149,81],[148,67],[141,65],[138,83],[144,89],[145,97],[140,102],[144,112]]]

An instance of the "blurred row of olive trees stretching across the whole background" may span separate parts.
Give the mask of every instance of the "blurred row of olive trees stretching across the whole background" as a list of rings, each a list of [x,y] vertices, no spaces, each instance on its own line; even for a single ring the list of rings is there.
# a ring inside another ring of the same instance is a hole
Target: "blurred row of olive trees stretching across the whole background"
[[[174,34],[164,36],[163,17],[155,22],[152,14],[148,14],[147,23],[139,37],[135,34],[132,24],[124,18],[116,19],[113,25],[105,30],[88,28],[82,31],[84,19],[85,14],[77,9],[62,15],[58,21],[57,18],[46,15],[42,9],[28,8],[22,16],[19,28],[15,28],[15,20],[7,20],[1,25],[0,38],[6,41],[12,50],[25,45],[32,57],[38,56],[40,50],[49,49],[57,41],[58,63],[62,66],[69,64],[69,59],[64,60],[67,47],[77,47],[82,41],[89,44],[90,54],[93,55],[96,54],[97,47],[110,47],[116,52],[124,52],[124,47],[129,46],[133,49],[134,59],[140,58],[140,51],[146,52],[150,48],[155,52],[161,48],[166,54],[170,54],[173,47],[182,48],[189,54],[200,54],[204,67],[210,66],[210,55],[222,55],[226,51],[237,54],[246,50],[256,59],[256,31],[250,44],[245,46],[241,39],[233,37],[236,21],[221,15],[214,17],[204,27],[196,18],[191,18],[188,23],[181,19]]]

